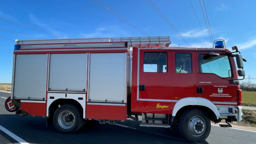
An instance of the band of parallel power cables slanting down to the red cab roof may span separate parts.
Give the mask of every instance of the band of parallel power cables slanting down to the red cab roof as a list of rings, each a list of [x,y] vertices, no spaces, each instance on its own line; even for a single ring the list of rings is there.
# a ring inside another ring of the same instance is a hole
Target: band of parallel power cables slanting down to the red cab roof
[[[175,28],[175,26],[166,18],[166,16],[161,12],[161,10],[152,2],[152,0],[146,0],[146,2],[154,9],[154,11],[168,24],[170,28],[190,47],[192,47],[188,41],[180,34],[180,32]]]

